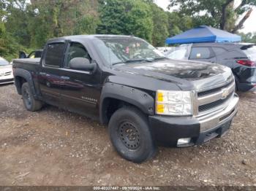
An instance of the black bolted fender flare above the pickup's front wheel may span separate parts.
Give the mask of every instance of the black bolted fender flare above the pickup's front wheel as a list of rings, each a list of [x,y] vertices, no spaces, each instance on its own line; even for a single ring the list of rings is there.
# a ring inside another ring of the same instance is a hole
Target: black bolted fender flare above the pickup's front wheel
[[[99,117],[102,123],[105,121],[104,102],[107,98],[124,101],[137,106],[145,114],[154,115],[154,98],[151,95],[133,87],[107,82],[102,88],[99,104]]]

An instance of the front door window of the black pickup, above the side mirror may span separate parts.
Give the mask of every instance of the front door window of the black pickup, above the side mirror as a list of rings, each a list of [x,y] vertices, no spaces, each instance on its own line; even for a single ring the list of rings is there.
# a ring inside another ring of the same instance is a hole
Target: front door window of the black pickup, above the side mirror
[[[72,44],[70,44],[69,52],[67,55],[66,67],[69,67],[69,62],[73,58],[87,58],[89,61],[91,61],[91,57],[87,52],[86,48],[83,47],[83,44],[80,44],[78,42],[72,42]]]

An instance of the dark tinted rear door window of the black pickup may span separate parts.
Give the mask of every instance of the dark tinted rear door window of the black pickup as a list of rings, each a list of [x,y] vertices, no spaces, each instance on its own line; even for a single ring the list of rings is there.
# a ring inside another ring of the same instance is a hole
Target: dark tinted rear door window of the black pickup
[[[45,64],[50,66],[61,66],[64,58],[64,43],[48,44],[45,55]]]

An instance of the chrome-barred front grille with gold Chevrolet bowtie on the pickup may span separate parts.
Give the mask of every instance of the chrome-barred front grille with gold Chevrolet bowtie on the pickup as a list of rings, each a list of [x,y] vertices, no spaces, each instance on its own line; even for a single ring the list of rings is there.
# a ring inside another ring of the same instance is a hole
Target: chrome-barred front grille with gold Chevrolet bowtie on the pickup
[[[214,87],[196,93],[196,115],[202,116],[218,109],[223,109],[235,93],[235,82],[232,80],[225,85]]]

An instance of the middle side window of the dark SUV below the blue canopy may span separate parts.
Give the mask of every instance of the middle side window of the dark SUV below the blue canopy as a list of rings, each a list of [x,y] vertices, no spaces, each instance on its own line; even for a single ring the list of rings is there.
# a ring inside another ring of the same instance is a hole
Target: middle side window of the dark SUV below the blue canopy
[[[217,58],[214,55],[211,47],[192,47],[189,55],[189,60],[217,63]]]

